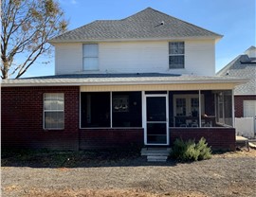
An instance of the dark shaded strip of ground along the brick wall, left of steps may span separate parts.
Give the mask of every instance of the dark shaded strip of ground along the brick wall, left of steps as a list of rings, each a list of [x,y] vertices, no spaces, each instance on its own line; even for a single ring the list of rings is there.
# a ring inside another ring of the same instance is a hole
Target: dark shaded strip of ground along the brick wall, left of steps
[[[60,152],[49,150],[2,150],[2,167],[76,168],[98,167],[140,156],[139,149]]]

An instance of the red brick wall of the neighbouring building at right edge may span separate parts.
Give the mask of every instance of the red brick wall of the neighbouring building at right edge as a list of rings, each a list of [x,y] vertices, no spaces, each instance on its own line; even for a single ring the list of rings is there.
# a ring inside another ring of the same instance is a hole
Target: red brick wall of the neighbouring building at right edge
[[[256,100],[256,96],[234,96],[235,117],[244,116],[244,100]]]

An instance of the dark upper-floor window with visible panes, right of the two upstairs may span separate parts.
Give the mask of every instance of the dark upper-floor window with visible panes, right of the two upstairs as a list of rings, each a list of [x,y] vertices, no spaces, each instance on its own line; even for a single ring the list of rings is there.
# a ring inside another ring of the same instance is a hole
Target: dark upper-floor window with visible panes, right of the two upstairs
[[[169,43],[169,68],[184,68],[184,42]]]

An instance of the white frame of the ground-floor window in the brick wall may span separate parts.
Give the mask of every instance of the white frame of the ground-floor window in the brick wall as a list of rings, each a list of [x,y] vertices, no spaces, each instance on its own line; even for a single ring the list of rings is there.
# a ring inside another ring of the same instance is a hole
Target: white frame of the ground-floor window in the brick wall
[[[64,93],[45,93],[44,94],[44,109],[43,109],[43,128],[44,130],[64,130],[64,126],[63,127],[59,127],[59,128],[51,128],[51,127],[46,127],[46,113],[47,112],[63,112],[64,113],[64,108],[63,109],[49,109],[49,110],[46,110],[46,95],[48,94],[51,94],[51,95],[62,95],[63,96],[63,99],[64,99]],[[64,121],[64,120],[63,120]]]

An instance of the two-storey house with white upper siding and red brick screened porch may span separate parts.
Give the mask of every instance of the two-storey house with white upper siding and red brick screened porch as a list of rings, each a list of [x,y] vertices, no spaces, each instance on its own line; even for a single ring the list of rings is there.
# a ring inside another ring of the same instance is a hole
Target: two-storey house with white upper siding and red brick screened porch
[[[151,8],[65,32],[49,41],[54,76],[2,82],[2,144],[84,150],[204,136],[234,150],[233,89],[244,80],[214,76],[221,38]]]

